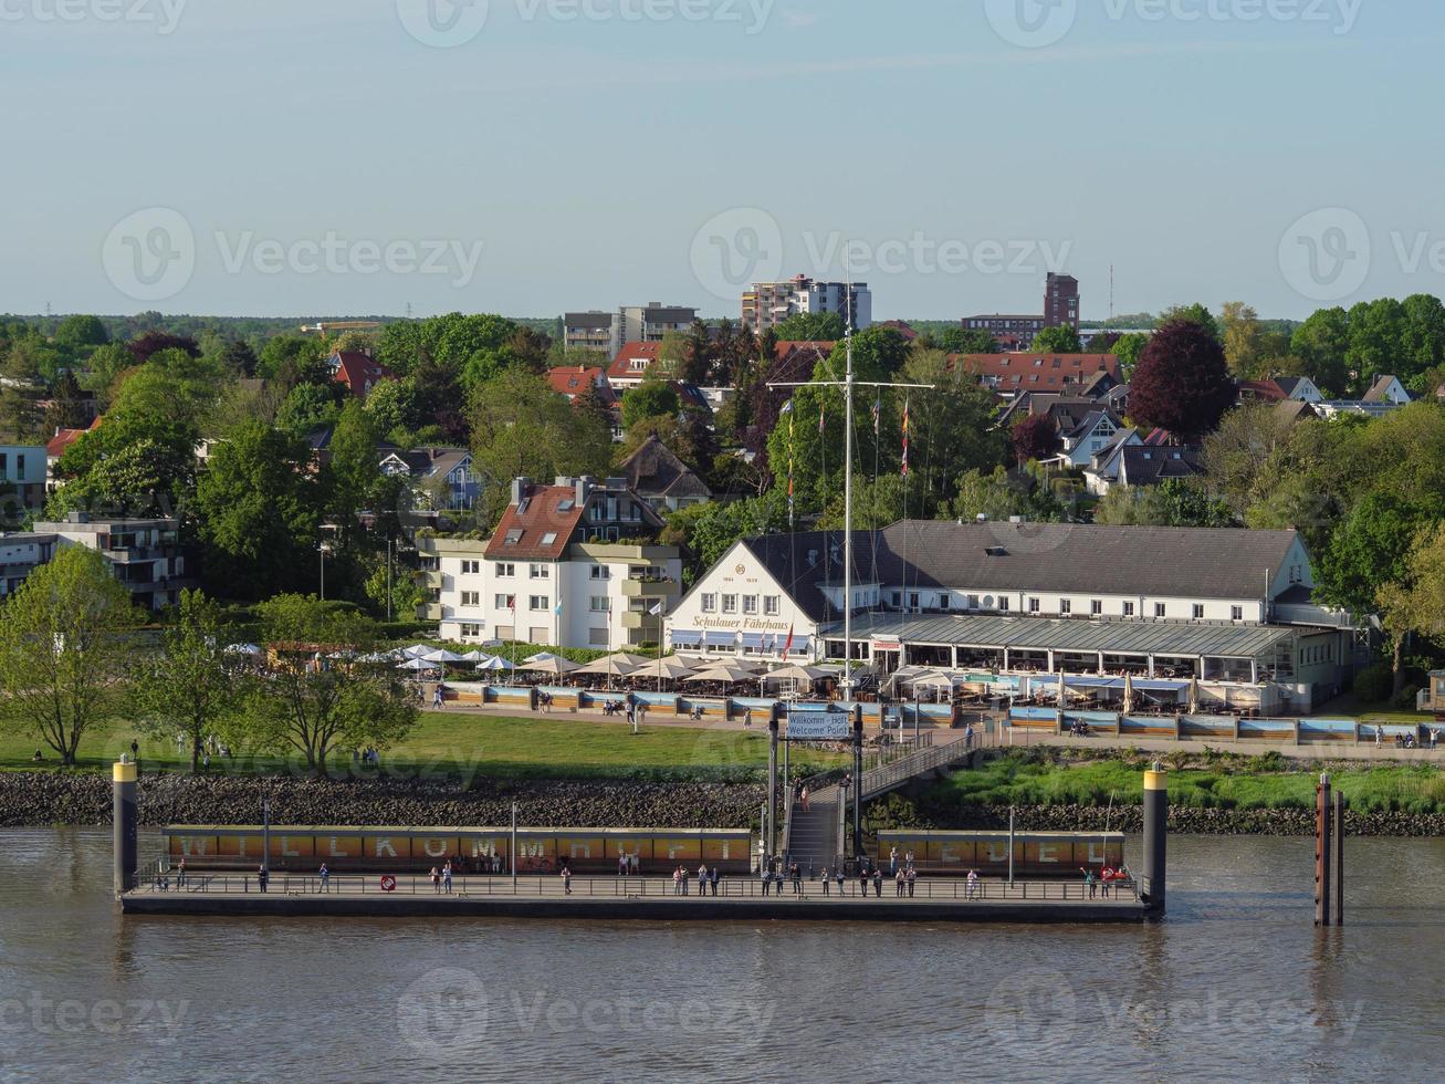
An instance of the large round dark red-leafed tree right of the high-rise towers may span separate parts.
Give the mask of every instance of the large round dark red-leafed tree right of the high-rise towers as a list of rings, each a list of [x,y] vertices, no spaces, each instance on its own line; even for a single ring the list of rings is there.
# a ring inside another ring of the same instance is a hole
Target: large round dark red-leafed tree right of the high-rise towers
[[[1235,395],[1224,347],[1199,324],[1181,319],[1159,328],[1139,356],[1129,415],[1191,439],[1214,432]]]

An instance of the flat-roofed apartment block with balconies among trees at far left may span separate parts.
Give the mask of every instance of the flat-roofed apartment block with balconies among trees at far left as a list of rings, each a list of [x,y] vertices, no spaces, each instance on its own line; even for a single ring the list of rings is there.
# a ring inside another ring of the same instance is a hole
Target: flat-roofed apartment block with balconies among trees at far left
[[[181,545],[179,519],[92,517],[72,512],[61,523],[36,523],[35,533],[53,535],[56,548],[78,545],[98,551],[136,606],[146,610],[175,606],[181,591],[199,585],[191,556]]]

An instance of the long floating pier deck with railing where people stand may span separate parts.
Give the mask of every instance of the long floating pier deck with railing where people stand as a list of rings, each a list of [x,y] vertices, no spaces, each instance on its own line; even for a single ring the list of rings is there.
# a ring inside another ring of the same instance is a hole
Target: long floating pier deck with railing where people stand
[[[919,880],[915,895],[897,896],[884,879],[883,895],[858,892],[857,879],[822,892],[821,882],[803,882],[795,893],[763,895],[757,877],[733,877],[718,895],[675,895],[672,880],[656,877],[574,877],[564,890],[558,874],[458,877],[451,893],[434,889],[428,877],[399,876],[394,889],[381,887],[380,874],[332,876],[325,890],[316,876],[273,873],[267,892],[254,874],[191,873],[186,885],[173,879],[121,896],[127,915],[211,916],[325,916],[325,918],[535,918],[637,919],[707,922],[1014,922],[1101,924],[1142,922],[1153,915],[1133,889],[1116,886],[1092,898],[1079,882],[981,882],[970,893],[959,880]]]

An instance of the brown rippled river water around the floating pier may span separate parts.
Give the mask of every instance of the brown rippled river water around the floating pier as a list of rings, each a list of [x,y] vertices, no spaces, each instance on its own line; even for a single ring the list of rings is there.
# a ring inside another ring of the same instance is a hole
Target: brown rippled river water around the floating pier
[[[123,921],[107,831],[0,831],[0,1080],[1445,1078],[1445,841],[1328,932],[1312,848],[1175,837],[1150,926]]]

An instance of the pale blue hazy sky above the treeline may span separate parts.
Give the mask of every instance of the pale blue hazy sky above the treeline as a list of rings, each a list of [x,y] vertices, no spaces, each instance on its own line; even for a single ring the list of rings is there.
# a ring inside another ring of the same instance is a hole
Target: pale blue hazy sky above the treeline
[[[1442,39],[1435,0],[0,0],[0,311],[1439,295]]]

